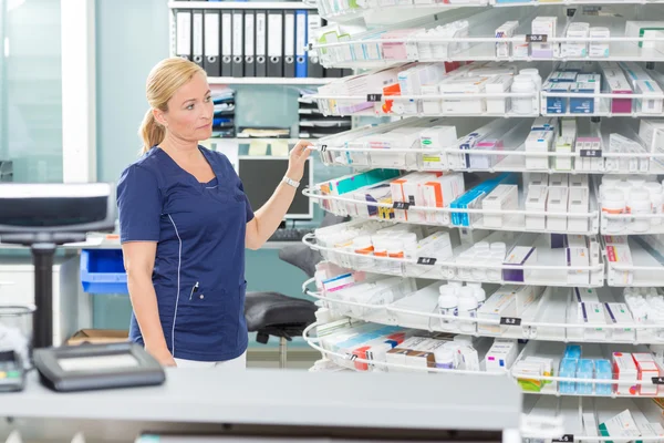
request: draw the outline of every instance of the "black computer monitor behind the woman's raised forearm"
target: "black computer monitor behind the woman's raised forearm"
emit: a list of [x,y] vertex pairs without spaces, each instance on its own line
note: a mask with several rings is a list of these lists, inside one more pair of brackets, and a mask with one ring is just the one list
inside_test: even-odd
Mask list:
[[[238,174],[245,187],[245,194],[253,210],[264,205],[274,189],[281,183],[288,169],[288,157],[252,156],[239,157]],[[313,183],[313,163],[309,158],[304,164],[304,175],[300,181],[300,188],[295,198],[286,214],[286,219],[310,220],[313,218],[313,202],[302,195],[302,188]]]

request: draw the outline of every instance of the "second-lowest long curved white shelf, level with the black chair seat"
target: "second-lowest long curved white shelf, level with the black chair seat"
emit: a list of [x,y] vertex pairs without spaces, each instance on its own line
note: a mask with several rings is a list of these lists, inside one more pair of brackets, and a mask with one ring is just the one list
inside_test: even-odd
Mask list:
[[[313,280],[313,279],[312,279]],[[388,305],[373,305],[349,300],[343,290],[322,295],[309,290],[312,284],[308,280],[303,291],[325,302],[334,312],[356,320],[386,326],[398,326],[423,331],[463,333],[474,337],[488,337],[511,340],[537,340],[564,343],[618,343],[618,344],[664,344],[664,328],[653,323],[624,323],[620,327],[606,323],[601,333],[585,333],[587,330],[598,329],[593,324],[578,321],[578,305],[575,289],[553,288],[544,289],[540,300],[531,305],[519,318],[520,326],[501,326],[499,320],[480,320],[466,318],[464,322],[499,327],[499,332],[490,332],[486,328],[477,327],[475,332],[461,331],[458,327],[458,317],[438,313],[438,290],[443,281],[425,285],[417,292],[395,300]],[[428,286],[426,286],[428,285]],[[487,298],[499,288],[497,285],[484,285]],[[624,302],[624,298],[616,288],[600,288],[598,296],[601,302]],[[619,338],[613,336],[616,329],[630,329],[631,332],[621,332]],[[627,337],[629,336],[629,337]]]

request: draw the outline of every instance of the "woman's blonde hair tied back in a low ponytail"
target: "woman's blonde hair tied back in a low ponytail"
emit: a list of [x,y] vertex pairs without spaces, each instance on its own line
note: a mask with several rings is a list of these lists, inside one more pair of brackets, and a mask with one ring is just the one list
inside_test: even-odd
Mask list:
[[162,60],[149,72],[146,97],[151,109],[145,113],[138,130],[138,136],[143,140],[144,154],[162,143],[166,135],[166,128],[155,120],[153,110],[168,111],[170,97],[198,72],[205,75],[205,71],[199,65],[179,56]]

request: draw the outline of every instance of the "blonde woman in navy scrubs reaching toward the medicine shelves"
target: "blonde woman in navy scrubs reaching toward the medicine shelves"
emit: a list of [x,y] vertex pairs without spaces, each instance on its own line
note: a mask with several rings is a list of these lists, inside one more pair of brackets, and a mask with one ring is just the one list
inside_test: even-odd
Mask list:
[[283,182],[252,212],[228,158],[198,145],[212,132],[205,72],[179,58],[147,79],[143,156],[117,185],[132,341],[164,365],[246,365],[245,248],[279,227],[310,143],[290,153]]

